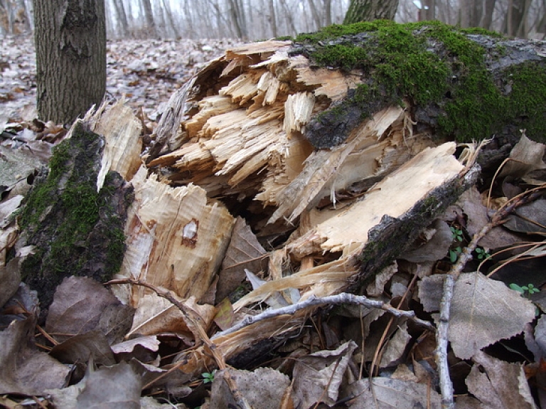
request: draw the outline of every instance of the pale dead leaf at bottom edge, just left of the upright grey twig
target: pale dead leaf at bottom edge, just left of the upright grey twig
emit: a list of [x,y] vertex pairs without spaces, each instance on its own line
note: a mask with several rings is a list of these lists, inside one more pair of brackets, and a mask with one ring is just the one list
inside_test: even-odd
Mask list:
[[439,393],[424,383],[377,377],[373,378],[373,391],[377,398],[377,406],[368,378],[352,383],[348,387],[348,393],[355,398],[350,400],[349,409],[439,409],[441,406]]

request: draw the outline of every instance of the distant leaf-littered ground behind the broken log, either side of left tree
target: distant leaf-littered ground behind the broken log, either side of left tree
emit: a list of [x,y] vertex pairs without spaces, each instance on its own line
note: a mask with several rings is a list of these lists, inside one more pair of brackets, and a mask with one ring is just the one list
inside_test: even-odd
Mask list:
[[[31,36],[0,38],[0,128],[36,117],[36,55]],[[125,97],[154,127],[165,102],[206,62],[237,44],[222,40],[118,40],[107,43],[107,97]]]

